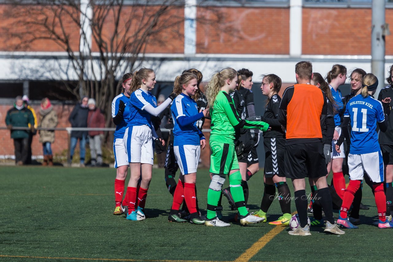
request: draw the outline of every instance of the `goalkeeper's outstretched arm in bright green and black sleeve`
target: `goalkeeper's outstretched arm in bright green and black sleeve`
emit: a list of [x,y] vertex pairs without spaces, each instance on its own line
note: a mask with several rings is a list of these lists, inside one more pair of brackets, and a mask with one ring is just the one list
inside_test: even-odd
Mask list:
[[268,130],[268,128],[269,128],[268,123],[261,122],[261,121],[258,121],[258,122],[247,121],[247,120],[241,119],[236,112],[235,106],[233,104],[233,99],[229,95],[226,95],[226,98],[227,99],[225,99],[225,100],[223,99],[222,108],[224,109],[224,112],[233,127],[235,127],[235,128],[258,128],[259,130],[262,130],[262,131]]

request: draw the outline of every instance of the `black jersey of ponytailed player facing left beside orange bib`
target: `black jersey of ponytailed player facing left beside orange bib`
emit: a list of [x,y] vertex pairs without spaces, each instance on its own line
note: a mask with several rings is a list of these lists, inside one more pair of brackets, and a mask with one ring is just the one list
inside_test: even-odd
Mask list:
[[281,128],[281,123],[278,121],[280,103],[281,97],[278,94],[274,94],[270,97],[269,103],[266,105],[265,113],[261,120],[268,123],[272,130],[263,132],[263,138],[285,138],[285,132]]

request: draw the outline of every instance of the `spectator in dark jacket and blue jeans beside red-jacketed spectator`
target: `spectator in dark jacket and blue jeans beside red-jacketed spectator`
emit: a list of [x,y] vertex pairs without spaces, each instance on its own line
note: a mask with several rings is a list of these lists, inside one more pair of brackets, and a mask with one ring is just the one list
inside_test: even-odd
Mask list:
[[[89,112],[87,106],[88,97],[84,96],[81,103],[76,104],[72,110],[68,121],[70,121],[72,127],[87,127],[87,115]],[[76,147],[76,143],[79,139],[79,150],[80,150],[80,166],[84,167],[84,156],[86,154],[86,139],[87,131],[72,131],[71,132],[71,150],[70,150],[70,163],[72,163],[73,153]]]

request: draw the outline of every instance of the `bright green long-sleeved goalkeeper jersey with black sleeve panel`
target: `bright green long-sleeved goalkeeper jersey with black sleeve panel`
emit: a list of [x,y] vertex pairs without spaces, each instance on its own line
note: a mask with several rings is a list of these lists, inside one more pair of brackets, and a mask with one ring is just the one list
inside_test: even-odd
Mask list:
[[266,131],[269,125],[262,121],[247,121],[239,117],[233,99],[224,91],[220,91],[210,108],[211,135],[210,140],[234,145],[235,128],[258,128]]

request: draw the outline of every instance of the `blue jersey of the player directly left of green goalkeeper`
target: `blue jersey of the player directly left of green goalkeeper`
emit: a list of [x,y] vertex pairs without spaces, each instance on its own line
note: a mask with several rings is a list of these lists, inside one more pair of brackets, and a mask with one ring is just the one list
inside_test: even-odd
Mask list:
[[[196,121],[203,117],[203,113],[198,113],[194,99],[181,93],[174,99],[171,112],[174,124],[173,145],[200,145],[200,140],[204,139],[204,136],[196,126]],[[180,119],[181,117],[184,119]]]

